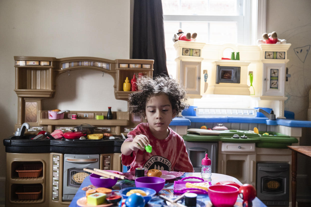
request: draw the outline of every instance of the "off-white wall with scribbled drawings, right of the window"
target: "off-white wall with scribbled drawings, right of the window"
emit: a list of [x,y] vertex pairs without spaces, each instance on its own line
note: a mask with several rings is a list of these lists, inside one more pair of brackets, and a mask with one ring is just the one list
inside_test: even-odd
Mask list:
[[[285,82],[285,110],[293,111],[295,119],[307,120],[309,90],[311,88],[311,53],[306,48],[295,48],[311,45],[311,1],[309,0],[267,0],[267,33],[276,31],[278,38],[286,39],[291,46],[287,53],[290,60],[286,67],[291,77]],[[304,54],[303,54],[304,53]],[[305,59],[304,59],[305,58]],[[311,145],[310,129],[303,128],[300,145]],[[297,165],[297,200],[309,199],[311,182],[310,159],[298,155]],[[311,179],[310,179],[311,180]],[[309,185],[309,187],[308,187]]]

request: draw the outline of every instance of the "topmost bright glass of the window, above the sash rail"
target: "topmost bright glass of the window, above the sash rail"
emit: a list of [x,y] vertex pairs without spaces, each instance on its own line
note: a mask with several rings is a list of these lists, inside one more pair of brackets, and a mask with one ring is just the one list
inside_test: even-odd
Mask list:
[[238,15],[237,0],[162,0],[164,15]]

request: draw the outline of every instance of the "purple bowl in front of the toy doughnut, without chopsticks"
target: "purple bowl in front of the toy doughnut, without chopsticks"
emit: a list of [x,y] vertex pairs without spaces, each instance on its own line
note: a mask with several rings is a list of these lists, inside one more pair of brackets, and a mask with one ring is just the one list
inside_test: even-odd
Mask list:
[[135,179],[136,187],[151,188],[158,193],[163,189],[165,185],[165,179],[159,177],[140,177]]

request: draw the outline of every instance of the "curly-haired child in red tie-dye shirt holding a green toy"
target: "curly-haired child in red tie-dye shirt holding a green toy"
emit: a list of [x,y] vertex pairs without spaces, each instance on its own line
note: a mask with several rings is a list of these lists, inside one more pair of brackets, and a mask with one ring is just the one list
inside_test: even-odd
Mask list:
[[[148,122],[138,124],[121,146],[122,164],[136,168],[194,172],[183,138],[169,128],[188,105],[186,92],[174,79],[146,76],[137,79],[138,92],[128,98],[129,112]],[[146,152],[150,144],[152,152]]]

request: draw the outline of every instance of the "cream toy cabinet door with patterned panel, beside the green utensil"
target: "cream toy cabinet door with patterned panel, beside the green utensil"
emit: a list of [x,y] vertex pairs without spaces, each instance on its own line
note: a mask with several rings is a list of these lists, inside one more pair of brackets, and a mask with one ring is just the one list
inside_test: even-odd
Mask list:
[[262,96],[285,95],[285,63],[263,63]]

